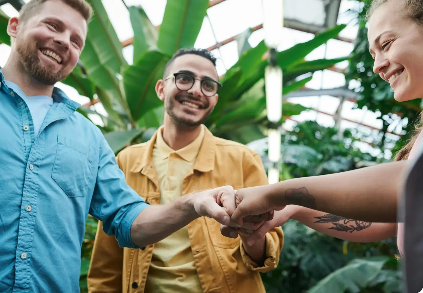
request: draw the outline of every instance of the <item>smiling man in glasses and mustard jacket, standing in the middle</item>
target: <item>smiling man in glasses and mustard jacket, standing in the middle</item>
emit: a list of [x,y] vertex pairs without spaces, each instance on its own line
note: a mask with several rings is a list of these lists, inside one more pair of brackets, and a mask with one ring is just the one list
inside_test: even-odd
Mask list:
[[[221,87],[215,66],[216,59],[207,50],[177,52],[156,85],[165,104],[164,125],[148,142],[118,154],[127,183],[151,205],[218,186],[239,189],[267,184],[257,153],[214,137],[203,125]],[[262,223],[251,223],[251,230]],[[244,244],[251,231],[227,238],[220,229],[214,219],[200,217],[145,250],[135,250],[119,247],[99,222],[89,292],[264,293],[259,272],[277,267],[281,228],[269,231],[253,246]]]

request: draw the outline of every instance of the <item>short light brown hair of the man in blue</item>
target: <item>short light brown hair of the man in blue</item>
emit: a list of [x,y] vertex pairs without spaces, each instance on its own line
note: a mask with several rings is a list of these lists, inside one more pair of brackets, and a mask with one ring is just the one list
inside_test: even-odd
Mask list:
[[[30,0],[25,3],[19,11],[19,19],[25,22],[38,12],[41,6],[48,0]],[[87,22],[90,22],[93,8],[85,0],[60,0],[66,5],[77,10]]]

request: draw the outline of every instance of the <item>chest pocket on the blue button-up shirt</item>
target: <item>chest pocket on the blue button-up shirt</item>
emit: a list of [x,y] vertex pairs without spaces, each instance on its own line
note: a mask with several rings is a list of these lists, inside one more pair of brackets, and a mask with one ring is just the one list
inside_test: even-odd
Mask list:
[[92,163],[88,153],[88,148],[80,142],[57,136],[52,179],[68,197],[81,197],[87,194]]

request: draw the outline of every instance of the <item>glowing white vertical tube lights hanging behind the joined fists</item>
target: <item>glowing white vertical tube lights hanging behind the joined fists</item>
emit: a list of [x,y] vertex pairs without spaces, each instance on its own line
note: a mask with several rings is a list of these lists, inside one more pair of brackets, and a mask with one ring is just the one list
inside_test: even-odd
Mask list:
[[278,123],[282,119],[282,69],[277,65],[277,47],[281,42],[283,28],[283,0],[262,0],[264,12],[264,43],[270,48],[269,65],[265,68],[267,119],[272,123],[268,131],[270,184],[279,181],[281,137]]

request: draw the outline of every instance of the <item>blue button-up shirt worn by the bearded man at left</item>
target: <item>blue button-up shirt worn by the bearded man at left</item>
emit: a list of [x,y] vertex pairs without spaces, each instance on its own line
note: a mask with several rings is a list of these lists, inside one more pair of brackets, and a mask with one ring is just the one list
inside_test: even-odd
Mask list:
[[120,246],[148,206],[125,182],[102,132],[58,88],[38,136],[0,71],[0,292],[80,292],[88,214]]

